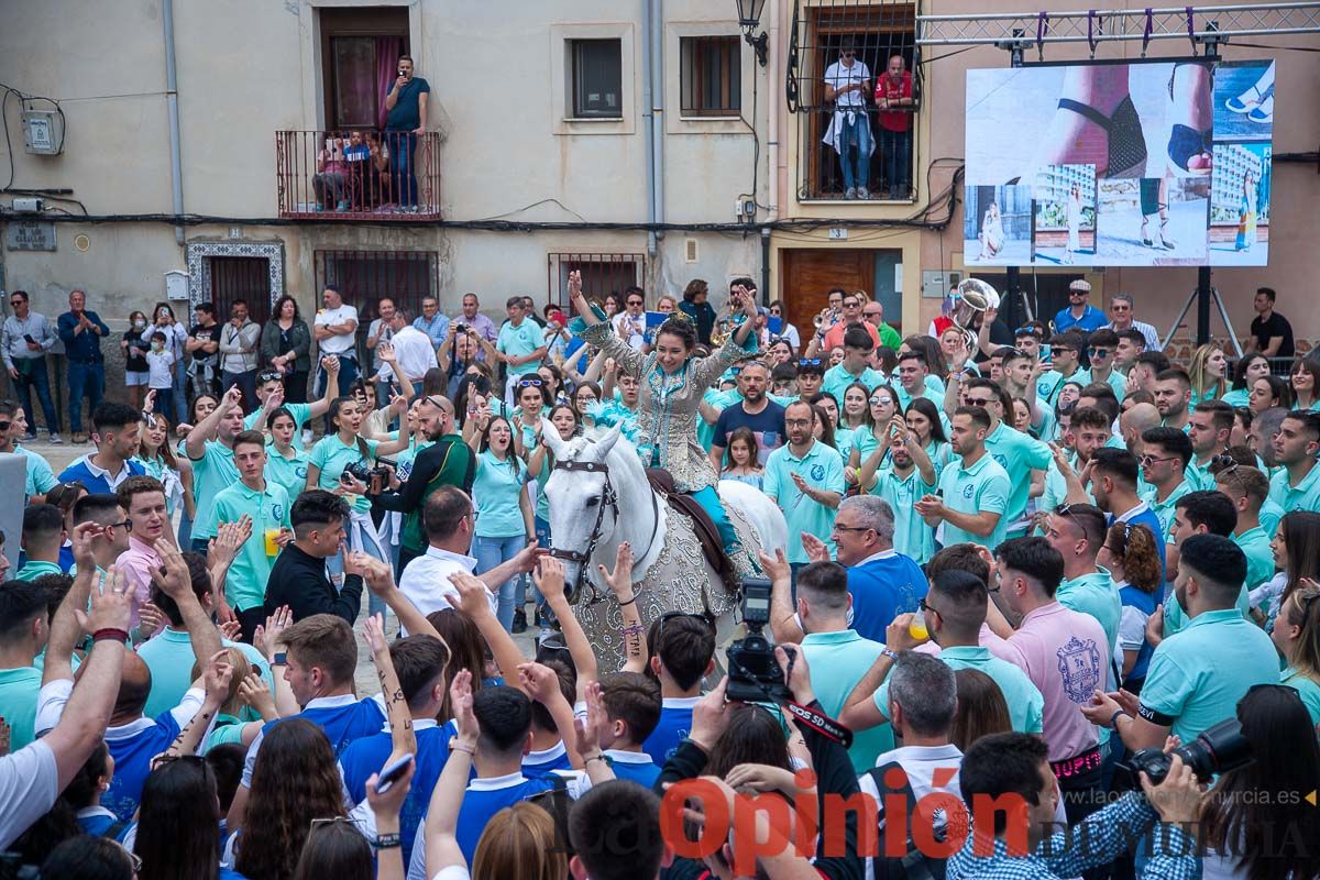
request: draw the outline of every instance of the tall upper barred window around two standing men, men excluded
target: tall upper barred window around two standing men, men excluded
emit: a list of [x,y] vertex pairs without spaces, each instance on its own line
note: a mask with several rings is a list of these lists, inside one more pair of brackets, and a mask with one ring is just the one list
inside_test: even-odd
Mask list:
[[[797,197],[800,199],[842,199],[847,190],[840,154],[824,142],[834,119],[836,100],[825,98],[825,74],[841,62],[841,50],[855,50],[854,63],[866,65],[870,88],[863,94],[875,149],[866,164],[867,189],[871,198],[913,198],[912,173],[916,154],[916,123],[921,103],[921,69],[917,65],[916,16],[919,3],[895,0],[859,3],[858,0],[822,0],[818,5],[795,12],[791,30],[787,99],[799,120]],[[911,88],[911,106],[884,113],[876,107],[874,91],[891,58],[903,61],[903,75],[909,80],[899,91]],[[884,116],[882,116],[884,113]],[[888,135],[890,127],[906,123],[906,137]],[[891,164],[890,157],[895,157]],[[906,160],[906,161],[904,161]],[[855,160],[854,160],[855,165]],[[851,170],[851,169],[850,169]]]

